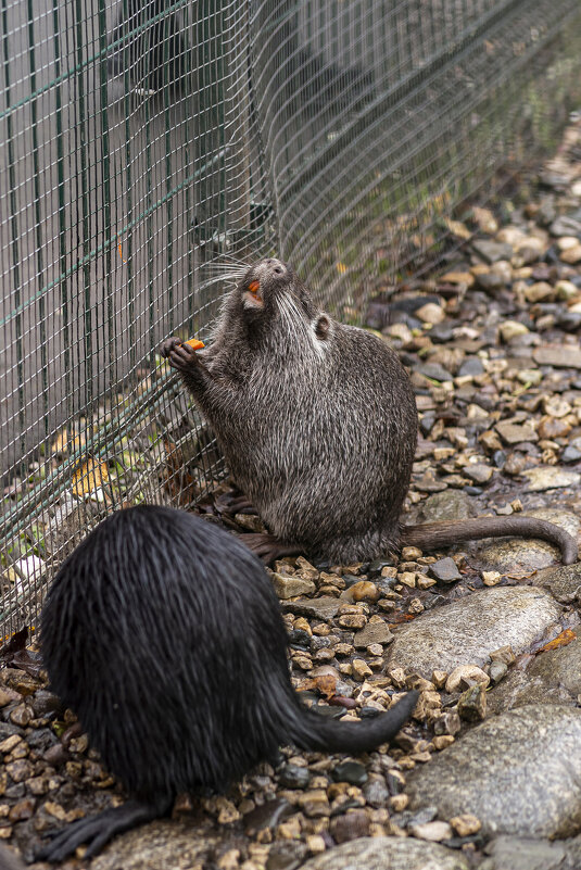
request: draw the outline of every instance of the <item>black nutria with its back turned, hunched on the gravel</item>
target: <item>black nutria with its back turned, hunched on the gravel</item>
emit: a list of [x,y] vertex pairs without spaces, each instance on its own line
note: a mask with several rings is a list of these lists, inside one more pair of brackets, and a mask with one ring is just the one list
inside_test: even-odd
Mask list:
[[304,707],[262,564],[199,517],[141,506],[113,514],[68,556],[42,610],[51,688],[131,799],[65,828],[38,857],[94,855],[167,814],[180,792],[223,791],[281,744],[370,751],[414,709],[408,692],[361,723]]

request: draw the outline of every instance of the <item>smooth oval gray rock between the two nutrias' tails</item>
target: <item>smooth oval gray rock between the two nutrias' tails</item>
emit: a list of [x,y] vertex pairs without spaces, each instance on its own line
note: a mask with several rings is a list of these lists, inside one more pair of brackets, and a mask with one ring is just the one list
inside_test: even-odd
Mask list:
[[534,587],[475,592],[394,629],[388,664],[426,679],[433,670],[450,672],[458,665],[482,668],[500,646],[511,646],[515,655],[527,652],[560,610],[551,595]]

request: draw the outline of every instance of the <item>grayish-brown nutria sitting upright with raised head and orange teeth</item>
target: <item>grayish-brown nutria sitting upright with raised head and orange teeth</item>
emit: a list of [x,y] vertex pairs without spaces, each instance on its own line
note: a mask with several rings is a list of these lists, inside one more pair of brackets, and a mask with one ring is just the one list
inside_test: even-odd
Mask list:
[[210,421],[230,471],[270,534],[244,541],[267,560],[306,552],[349,564],[415,545],[519,535],[577,543],[531,517],[402,526],[417,440],[414,393],[376,336],[320,311],[279,260],[252,266],[201,353],[167,339],[169,364]]

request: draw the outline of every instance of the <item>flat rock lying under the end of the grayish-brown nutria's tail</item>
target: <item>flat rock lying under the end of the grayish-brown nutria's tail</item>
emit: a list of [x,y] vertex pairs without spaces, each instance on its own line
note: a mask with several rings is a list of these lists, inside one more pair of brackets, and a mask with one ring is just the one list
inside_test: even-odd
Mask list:
[[[580,521],[568,510],[547,507],[527,510],[526,516],[546,519],[577,538]],[[559,551],[546,541],[536,539],[510,538],[495,540],[489,544],[477,544],[473,549],[473,565],[480,570],[495,570],[501,573],[530,573],[546,568],[559,559]],[[471,559],[472,562],[472,559]]]

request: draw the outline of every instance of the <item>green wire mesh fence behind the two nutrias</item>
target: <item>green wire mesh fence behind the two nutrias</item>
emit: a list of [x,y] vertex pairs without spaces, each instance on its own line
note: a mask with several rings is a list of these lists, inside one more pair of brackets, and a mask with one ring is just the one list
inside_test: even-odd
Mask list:
[[338,316],[581,97],[577,0],[0,0],[2,633],[106,513],[224,475],[163,338],[228,264]]

